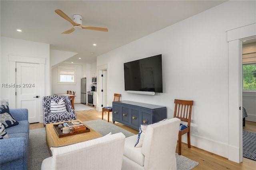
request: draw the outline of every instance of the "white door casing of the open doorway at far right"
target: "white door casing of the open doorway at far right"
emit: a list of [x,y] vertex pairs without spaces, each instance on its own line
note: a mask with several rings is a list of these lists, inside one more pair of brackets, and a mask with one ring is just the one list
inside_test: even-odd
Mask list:
[[228,41],[228,159],[242,162],[242,39],[256,36],[256,23],[230,29]]

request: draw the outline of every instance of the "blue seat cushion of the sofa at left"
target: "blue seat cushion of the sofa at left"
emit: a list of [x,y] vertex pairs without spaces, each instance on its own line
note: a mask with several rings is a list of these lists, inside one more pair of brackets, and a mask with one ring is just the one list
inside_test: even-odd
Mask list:
[[13,133],[29,134],[29,122],[27,120],[22,120],[18,125],[7,128],[6,132],[8,135]]

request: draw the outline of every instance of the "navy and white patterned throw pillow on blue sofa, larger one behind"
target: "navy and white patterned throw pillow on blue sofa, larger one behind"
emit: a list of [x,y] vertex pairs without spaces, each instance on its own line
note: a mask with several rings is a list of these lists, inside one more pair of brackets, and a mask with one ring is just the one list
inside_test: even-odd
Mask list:
[[12,127],[15,125],[18,125],[19,122],[14,119],[12,114],[10,113],[9,104],[8,102],[4,102],[0,106],[0,117],[1,117],[1,123],[4,125],[5,128]]

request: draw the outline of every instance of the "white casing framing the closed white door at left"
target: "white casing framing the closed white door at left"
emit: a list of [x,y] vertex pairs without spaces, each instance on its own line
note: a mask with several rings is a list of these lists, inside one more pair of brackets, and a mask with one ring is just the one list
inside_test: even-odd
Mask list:
[[[45,64],[46,59],[41,57],[31,57],[31,56],[22,56],[22,55],[8,55],[9,57],[9,83],[16,83],[16,63],[35,63],[39,65],[39,77],[40,77],[40,94],[38,96],[45,96]],[[9,89],[9,106],[10,108],[18,108],[16,106],[16,88]],[[37,113],[40,117],[40,123],[43,122],[43,114],[42,114],[42,100],[39,100],[39,112]],[[29,113],[30,114],[30,113]],[[30,122],[31,123],[31,122]]]

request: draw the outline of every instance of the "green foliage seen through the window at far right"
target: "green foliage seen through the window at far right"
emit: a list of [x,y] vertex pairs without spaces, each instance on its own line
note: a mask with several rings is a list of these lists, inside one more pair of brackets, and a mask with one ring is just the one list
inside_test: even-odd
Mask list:
[[256,90],[256,64],[243,65],[244,90]]

